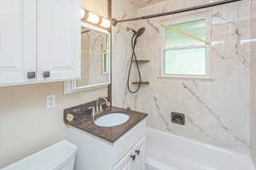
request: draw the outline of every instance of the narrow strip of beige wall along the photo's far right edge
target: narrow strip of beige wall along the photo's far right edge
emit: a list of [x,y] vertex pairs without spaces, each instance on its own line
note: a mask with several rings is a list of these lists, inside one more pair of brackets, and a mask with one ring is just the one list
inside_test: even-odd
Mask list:
[[[252,0],[251,38],[256,39],[256,0]],[[251,152],[256,166],[256,42],[251,43]]]

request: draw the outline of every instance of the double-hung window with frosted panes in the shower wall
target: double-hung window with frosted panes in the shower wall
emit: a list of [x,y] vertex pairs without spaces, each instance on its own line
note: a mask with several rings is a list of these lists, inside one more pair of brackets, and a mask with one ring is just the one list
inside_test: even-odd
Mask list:
[[210,29],[207,16],[163,25],[162,77],[210,78]]

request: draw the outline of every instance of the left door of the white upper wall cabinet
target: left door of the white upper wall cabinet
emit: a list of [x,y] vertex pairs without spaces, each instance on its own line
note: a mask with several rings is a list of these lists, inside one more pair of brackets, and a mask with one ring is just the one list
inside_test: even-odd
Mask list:
[[0,86],[36,82],[36,0],[0,0]]

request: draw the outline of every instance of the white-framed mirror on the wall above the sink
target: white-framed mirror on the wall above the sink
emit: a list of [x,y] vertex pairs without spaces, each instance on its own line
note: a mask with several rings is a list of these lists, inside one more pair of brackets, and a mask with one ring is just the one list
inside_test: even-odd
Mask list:
[[110,34],[96,26],[82,23],[81,79],[66,82],[65,94],[108,87],[110,84]]

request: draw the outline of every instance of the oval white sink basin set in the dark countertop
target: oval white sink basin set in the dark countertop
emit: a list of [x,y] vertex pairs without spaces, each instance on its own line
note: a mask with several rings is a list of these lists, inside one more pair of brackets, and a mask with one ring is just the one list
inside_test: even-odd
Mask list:
[[95,124],[99,127],[115,127],[127,122],[130,116],[123,113],[112,113],[96,119]]

